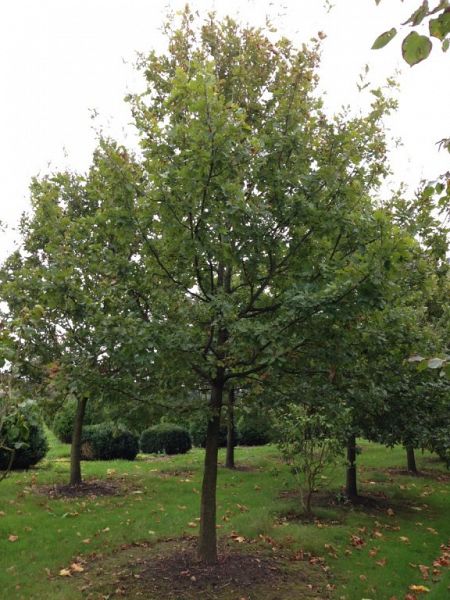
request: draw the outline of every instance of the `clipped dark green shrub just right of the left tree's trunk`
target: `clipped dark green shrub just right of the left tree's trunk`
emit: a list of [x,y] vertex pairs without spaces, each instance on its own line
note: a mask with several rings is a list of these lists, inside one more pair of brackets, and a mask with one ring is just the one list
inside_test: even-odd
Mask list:
[[131,431],[117,429],[111,423],[87,425],[83,428],[83,460],[134,460],[138,451],[138,438]]

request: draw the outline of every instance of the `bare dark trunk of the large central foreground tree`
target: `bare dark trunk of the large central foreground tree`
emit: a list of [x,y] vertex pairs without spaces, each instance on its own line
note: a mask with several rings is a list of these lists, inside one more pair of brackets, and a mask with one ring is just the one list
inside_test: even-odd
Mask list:
[[212,410],[212,416],[208,422],[206,433],[205,466],[202,482],[200,534],[198,544],[198,556],[200,560],[206,564],[214,564],[217,562],[217,455],[223,386],[223,381],[216,381],[211,388],[210,408]]

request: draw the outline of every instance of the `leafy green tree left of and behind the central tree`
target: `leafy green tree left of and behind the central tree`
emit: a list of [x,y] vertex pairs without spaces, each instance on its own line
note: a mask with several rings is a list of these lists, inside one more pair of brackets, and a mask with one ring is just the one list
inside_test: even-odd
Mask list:
[[[121,169],[123,163],[127,169]],[[76,399],[72,485],[81,482],[88,400],[131,401],[133,393],[138,395],[132,365],[151,363],[148,319],[133,329],[129,318],[144,310],[130,287],[135,239],[125,177],[130,178],[130,167],[128,155],[104,141],[87,175],[57,173],[34,180],[33,212],[21,224],[22,248],[1,272],[7,321],[17,340],[17,369],[41,386],[41,395]]]

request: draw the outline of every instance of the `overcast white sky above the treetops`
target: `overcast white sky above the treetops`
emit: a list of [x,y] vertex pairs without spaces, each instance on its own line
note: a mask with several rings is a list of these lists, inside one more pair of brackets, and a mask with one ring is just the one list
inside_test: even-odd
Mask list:
[[[434,43],[431,57],[409,68],[400,56],[403,36],[371,51],[376,36],[405,21],[419,0],[191,0],[200,13],[239,16],[263,24],[266,15],[280,33],[302,43],[317,31],[323,42],[321,89],[332,111],[343,104],[354,111],[370,94],[356,81],[367,63],[368,79],[381,84],[400,69],[400,107],[388,125],[403,146],[392,152],[393,185],[415,189],[420,179],[450,169],[450,155],[436,142],[450,135],[450,51]],[[133,69],[135,53],[162,49],[160,25],[179,0],[3,0],[0,2],[0,258],[14,247],[14,226],[29,208],[33,175],[70,167],[85,170],[95,145],[95,127],[132,143],[131,121],[123,97],[141,89]],[[128,134],[128,138],[126,138]]]

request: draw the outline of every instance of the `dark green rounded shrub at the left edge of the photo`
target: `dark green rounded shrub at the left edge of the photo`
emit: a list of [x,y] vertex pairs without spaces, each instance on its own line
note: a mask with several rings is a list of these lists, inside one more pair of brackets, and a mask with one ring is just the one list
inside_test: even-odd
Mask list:
[[[19,405],[14,417],[3,423],[2,443],[15,449],[12,469],[28,469],[47,454],[44,428],[31,403]],[[9,461],[10,453],[0,450],[0,470],[7,469]]]

